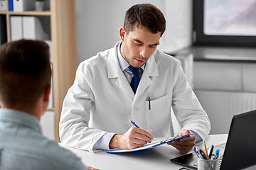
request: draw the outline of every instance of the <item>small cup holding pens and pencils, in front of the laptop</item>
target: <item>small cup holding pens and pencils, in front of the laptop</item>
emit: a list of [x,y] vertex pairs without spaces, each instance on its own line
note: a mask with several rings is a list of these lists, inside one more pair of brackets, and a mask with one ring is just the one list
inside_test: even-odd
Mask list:
[[198,170],[217,170],[220,169],[220,159],[201,159],[198,158]]

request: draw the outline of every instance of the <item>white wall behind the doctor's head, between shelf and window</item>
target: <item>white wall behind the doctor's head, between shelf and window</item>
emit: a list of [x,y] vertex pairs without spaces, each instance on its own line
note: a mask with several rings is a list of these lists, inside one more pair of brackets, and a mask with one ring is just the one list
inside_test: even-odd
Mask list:
[[142,3],[154,4],[166,17],[161,50],[175,52],[191,45],[191,0],[76,0],[78,63],[114,47],[120,40],[119,28],[123,26],[125,12]]

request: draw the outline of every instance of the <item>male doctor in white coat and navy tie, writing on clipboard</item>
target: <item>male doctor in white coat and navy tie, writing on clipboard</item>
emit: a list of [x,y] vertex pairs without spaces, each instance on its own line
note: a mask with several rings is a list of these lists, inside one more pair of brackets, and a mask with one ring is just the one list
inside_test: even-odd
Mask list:
[[[63,144],[90,152],[141,147],[154,137],[175,135],[171,108],[182,127],[179,134],[194,135],[169,145],[188,153],[195,140],[206,139],[210,132],[208,116],[180,62],[156,50],[165,27],[159,8],[134,5],[119,29],[122,41],[79,65],[63,101]],[[140,128],[131,128],[129,119]]]

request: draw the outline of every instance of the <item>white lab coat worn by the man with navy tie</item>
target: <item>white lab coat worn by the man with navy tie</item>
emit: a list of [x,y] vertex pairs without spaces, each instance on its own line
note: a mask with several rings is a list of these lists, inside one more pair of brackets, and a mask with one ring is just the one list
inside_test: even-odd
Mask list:
[[[107,132],[124,133],[129,119],[154,137],[170,137],[171,107],[183,129],[206,139],[210,122],[186,80],[180,62],[156,50],[146,62],[136,94],[119,67],[117,47],[82,62],[63,101],[60,141],[89,150]],[[148,97],[151,98],[149,110]]]

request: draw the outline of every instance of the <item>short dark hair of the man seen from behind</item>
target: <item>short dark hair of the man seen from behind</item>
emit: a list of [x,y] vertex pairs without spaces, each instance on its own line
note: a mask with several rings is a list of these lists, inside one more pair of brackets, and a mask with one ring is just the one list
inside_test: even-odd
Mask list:
[[38,40],[18,40],[0,47],[0,101],[33,107],[47,86],[51,68],[49,46]]

